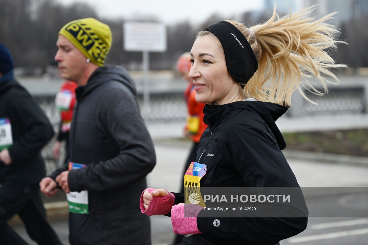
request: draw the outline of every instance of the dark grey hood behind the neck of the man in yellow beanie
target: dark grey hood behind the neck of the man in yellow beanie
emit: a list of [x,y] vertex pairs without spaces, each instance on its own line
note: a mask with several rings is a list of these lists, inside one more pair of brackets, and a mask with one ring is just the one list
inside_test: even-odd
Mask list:
[[77,100],[82,99],[105,81],[117,81],[124,84],[135,95],[135,84],[128,72],[120,66],[97,68],[89,77],[87,84],[75,89]]

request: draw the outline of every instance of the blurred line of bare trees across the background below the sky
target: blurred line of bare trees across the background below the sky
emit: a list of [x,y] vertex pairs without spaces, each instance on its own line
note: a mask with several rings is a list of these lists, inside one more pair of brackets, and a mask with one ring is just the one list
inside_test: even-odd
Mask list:
[[[74,3],[64,6],[54,0],[0,0],[0,42],[9,47],[13,53],[16,66],[45,67],[54,60],[57,33],[67,22],[74,19],[98,18],[93,7],[86,3]],[[247,26],[266,21],[272,13],[265,11],[245,12],[240,15],[240,22]],[[366,40],[368,40],[368,15],[354,14],[354,18],[341,24],[340,40],[350,44],[338,45],[337,52],[330,54],[339,63],[350,67],[368,66]],[[210,15],[205,21],[192,25],[188,21],[167,26],[167,51],[151,53],[151,69],[173,69],[181,53],[190,51],[198,31],[232,16]],[[123,49],[124,18],[100,19],[110,26],[113,42],[107,64],[123,65],[128,69],[140,69],[141,52],[126,52]],[[134,15],[129,20],[158,22],[155,16]]]

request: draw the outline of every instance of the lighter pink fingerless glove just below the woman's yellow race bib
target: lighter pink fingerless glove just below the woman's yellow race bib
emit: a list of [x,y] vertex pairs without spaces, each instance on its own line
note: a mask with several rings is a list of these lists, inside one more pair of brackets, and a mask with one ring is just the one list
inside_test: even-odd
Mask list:
[[197,227],[197,216],[203,207],[188,204],[185,205],[185,209],[188,217],[184,217],[184,205],[175,205],[171,209],[171,224],[173,224],[174,233],[181,235],[202,233]]

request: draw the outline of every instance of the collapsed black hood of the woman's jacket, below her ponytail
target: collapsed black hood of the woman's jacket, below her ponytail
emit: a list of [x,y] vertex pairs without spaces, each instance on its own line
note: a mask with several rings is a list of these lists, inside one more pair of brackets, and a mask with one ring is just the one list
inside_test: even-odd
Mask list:
[[203,113],[205,114],[204,122],[214,128],[223,120],[226,114],[231,111],[255,111],[268,125],[276,138],[279,148],[283,150],[286,147],[286,143],[275,121],[286,113],[288,108],[287,106],[262,101],[238,101],[220,106],[206,104],[203,109]]

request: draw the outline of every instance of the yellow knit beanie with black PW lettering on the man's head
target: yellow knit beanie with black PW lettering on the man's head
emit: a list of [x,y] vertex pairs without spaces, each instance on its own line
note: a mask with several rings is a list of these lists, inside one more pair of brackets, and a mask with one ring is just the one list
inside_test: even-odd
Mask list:
[[112,34],[110,27],[94,18],[77,19],[64,25],[59,34],[96,65],[102,66],[109,53]]

